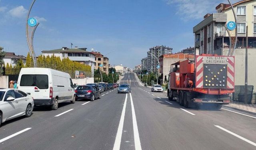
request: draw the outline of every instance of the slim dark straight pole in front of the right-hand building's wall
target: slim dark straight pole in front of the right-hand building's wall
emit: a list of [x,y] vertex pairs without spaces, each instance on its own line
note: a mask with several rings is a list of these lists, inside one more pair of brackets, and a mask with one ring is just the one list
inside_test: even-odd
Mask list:
[[248,104],[248,102],[247,102],[247,86],[248,86],[248,26],[246,26],[244,104]]

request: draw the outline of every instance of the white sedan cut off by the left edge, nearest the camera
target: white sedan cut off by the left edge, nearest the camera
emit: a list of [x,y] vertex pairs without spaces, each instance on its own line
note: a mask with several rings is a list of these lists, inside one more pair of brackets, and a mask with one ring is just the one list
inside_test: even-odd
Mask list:
[[0,88],[0,126],[19,116],[30,117],[33,108],[34,100],[30,95],[17,89]]

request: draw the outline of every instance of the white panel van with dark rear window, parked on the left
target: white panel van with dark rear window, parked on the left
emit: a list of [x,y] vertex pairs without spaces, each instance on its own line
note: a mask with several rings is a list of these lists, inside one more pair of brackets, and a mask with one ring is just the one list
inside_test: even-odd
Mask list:
[[58,109],[58,103],[75,103],[76,96],[70,75],[50,68],[22,68],[17,88],[30,94],[35,106],[51,106]]

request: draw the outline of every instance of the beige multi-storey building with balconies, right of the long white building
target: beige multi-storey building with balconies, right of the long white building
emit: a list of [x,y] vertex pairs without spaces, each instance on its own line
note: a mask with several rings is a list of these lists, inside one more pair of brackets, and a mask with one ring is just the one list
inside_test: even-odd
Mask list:
[[[98,70],[98,68],[100,68],[101,71],[108,74],[108,68],[109,68],[108,58],[104,57],[100,52],[92,52],[92,54],[95,55],[95,62],[96,62],[95,69]],[[100,67],[100,64],[102,64],[102,67]]]

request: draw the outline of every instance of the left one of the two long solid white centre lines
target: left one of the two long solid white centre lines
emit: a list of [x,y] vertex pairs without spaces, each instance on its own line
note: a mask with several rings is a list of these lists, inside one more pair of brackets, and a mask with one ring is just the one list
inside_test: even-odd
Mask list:
[[118,125],[118,129],[117,129],[117,133],[116,133],[116,140],[114,143],[113,150],[120,150],[122,131],[123,131],[123,127],[124,127],[124,115],[125,115],[126,102],[127,102],[127,94],[125,96],[124,107],[123,107],[120,122]]

